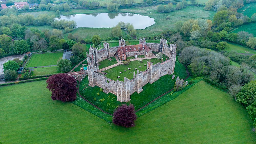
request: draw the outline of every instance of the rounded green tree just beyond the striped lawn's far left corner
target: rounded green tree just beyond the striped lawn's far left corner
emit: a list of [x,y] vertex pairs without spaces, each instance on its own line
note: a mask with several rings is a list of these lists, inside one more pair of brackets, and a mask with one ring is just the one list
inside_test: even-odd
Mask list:
[[13,45],[14,54],[23,54],[30,50],[29,44],[25,40],[15,40]]

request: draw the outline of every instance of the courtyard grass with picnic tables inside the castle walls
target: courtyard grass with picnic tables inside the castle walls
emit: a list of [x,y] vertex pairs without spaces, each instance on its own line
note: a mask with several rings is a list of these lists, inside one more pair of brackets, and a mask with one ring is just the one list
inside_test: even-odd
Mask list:
[[[139,60],[131,61],[128,65],[122,64],[102,72],[106,72],[107,74],[105,76],[110,78],[111,80],[124,81],[124,77],[127,77],[128,79],[133,78],[133,72],[135,71],[135,73],[137,73],[137,70],[135,70],[135,68],[137,68],[139,71],[145,71],[147,69],[147,61],[149,61],[149,59],[142,60],[142,63]],[[151,62],[153,62],[153,64],[156,64],[158,62],[161,63],[162,60],[158,60],[154,58],[154,59],[151,59]],[[128,70],[128,68],[131,68],[131,69]],[[124,70],[127,70],[127,71],[125,72]],[[123,72],[123,73],[119,73],[119,72]],[[117,78],[117,76],[120,76],[120,78]]]

